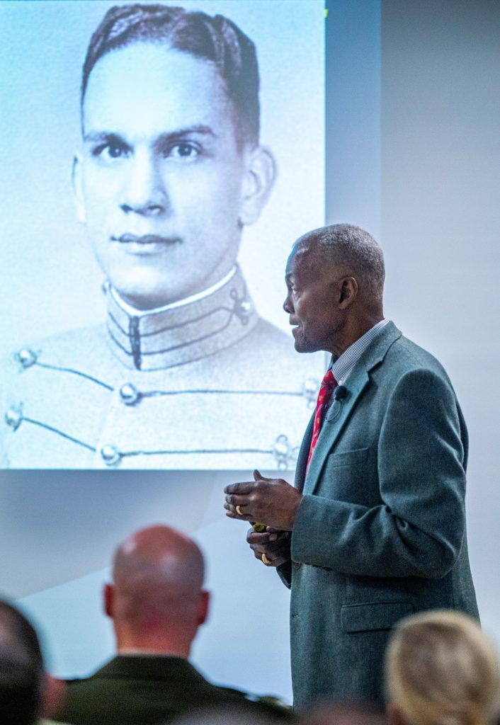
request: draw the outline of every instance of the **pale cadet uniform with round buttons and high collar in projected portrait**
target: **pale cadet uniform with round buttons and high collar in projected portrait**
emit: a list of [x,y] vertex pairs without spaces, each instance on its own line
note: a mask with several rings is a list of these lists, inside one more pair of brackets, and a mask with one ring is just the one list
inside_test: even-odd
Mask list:
[[9,360],[2,468],[294,468],[321,360],[259,318],[238,268],[139,313],[107,286],[106,326]]

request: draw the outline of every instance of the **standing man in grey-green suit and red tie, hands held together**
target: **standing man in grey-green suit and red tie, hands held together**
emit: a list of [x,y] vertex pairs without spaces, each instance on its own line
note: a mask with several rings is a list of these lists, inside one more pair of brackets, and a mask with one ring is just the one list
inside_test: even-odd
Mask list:
[[292,589],[295,705],[382,698],[393,624],[454,608],[478,616],[467,557],[467,429],[435,358],[382,311],[384,261],[351,225],[301,237],[284,310],[298,352],[332,363],[298,457],[282,479],[226,487],[231,518],[266,524],[248,542]]

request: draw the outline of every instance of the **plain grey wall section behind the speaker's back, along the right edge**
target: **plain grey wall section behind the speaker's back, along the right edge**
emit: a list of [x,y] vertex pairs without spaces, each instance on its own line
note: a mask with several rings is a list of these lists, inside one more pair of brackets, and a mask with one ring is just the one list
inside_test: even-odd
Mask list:
[[385,312],[462,402],[472,573],[500,642],[499,86],[498,2],[382,3]]

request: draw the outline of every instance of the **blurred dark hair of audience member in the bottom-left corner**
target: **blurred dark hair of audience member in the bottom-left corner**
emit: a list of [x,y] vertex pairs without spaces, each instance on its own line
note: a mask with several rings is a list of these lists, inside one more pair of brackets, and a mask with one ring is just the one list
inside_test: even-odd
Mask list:
[[44,661],[33,626],[20,611],[0,600],[0,723],[38,721]]

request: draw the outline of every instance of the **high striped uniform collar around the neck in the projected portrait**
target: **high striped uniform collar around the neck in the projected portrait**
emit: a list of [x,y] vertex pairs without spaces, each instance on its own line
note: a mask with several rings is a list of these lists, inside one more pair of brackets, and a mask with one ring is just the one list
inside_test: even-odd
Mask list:
[[134,310],[109,283],[105,291],[108,342],[132,370],[192,363],[239,342],[258,323],[238,267],[210,289],[157,310]]

